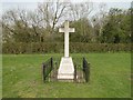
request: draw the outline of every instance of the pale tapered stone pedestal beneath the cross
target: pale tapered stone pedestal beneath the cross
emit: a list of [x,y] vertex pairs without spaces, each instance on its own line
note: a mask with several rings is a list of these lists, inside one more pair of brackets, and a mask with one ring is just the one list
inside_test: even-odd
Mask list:
[[74,66],[72,58],[63,57],[60,62],[60,68],[58,70],[59,80],[73,80],[74,79]]

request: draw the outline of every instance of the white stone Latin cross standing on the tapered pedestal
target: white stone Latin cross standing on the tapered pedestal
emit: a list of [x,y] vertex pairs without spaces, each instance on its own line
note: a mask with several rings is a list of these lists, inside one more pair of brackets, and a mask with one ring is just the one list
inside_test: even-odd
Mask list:
[[64,32],[64,57],[69,57],[69,32],[74,32],[74,28],[69,28],[69,21],[65,21],[64,28],[59,28],[59,32]]

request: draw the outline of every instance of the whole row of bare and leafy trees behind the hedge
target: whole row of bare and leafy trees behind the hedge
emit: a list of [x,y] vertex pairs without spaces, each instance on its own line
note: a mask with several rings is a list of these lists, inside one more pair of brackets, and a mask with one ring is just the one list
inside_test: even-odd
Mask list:
[[65,20],[75,33],[70,33],[71,42],[131,43],[131,13],[133,9],[111,8],[105,11],[101,3],[94,12],[92,2],[45,2],[33,11],[12,9],[2,14],[3,42],[63,42],[59,28]]

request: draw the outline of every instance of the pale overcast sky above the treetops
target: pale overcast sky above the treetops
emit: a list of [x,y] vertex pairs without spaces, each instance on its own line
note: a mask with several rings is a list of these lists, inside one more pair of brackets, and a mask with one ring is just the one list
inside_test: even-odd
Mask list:
[[[0,1],[0,12],[7,11],[9,9],[27,9],[27,10],[34,10],[38,7],[39,2],[43,2],[45,0],[1,0]],[[50,0],[49,0],[50,1]],[[55,0],[54,0],[55,1]],[[96,10],[96,6],[100,2],[106,3],[106,9],[110,8],[121,8],[121,9],[129,9],[131,7],[132,0],[63,0],[63,1],[71,1],[71,2],[83,2],[83,1],[93,1],[94,8]]]

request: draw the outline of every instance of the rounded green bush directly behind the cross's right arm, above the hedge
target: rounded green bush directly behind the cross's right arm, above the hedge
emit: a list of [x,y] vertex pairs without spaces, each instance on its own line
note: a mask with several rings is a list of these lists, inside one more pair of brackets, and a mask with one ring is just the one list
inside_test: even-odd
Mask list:
[[70,23],[70,27],[75,28],[74,33],[70,33],[70,41],[72,42],[91,42],[93,29],[86,18],[79,19]]

